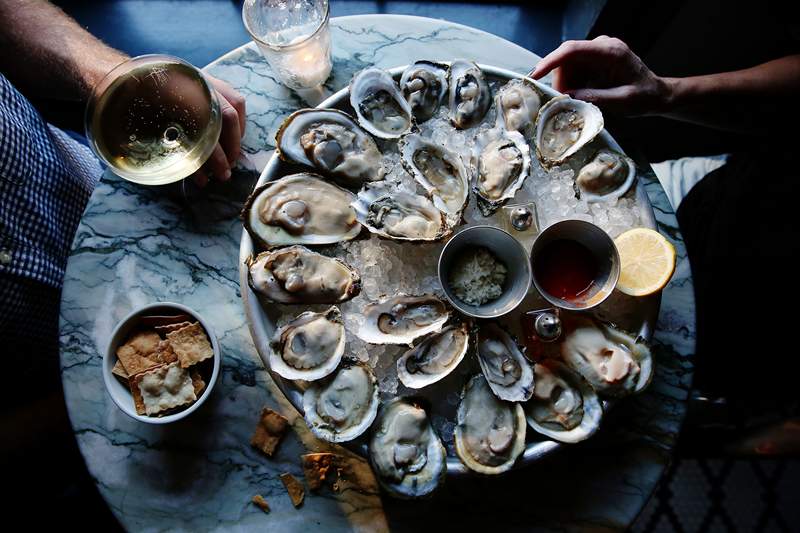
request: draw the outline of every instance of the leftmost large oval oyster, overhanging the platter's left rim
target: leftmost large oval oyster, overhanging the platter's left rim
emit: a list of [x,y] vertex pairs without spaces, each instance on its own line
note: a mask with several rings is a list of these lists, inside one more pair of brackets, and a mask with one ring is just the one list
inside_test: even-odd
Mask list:
[[356,196],[317,174],[292,174],[258,187],[242,219],[264,248],[287,244],[331,244],[361,232],[350,204]]

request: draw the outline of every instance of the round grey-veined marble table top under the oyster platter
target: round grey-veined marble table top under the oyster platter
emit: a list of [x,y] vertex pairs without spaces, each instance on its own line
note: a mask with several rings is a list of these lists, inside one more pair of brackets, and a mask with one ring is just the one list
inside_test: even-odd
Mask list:
[[[369,65],[468,56],[520,73],[538,60],[508,41],[446,21],[365,15],[331,20],[334,69],[326,92]],[[440,527],[616,530],[629,526],[670,459],[686,411],[694,351],[694,300],[686,251],[652,173],[641,177],[659,228],[678,250],[654,338],[657,373],[642,395],[619,404],[588,442],[497,478],[451,480],[431,500],[401,502],[377,491],[322,491],[292,507],[278,475],[302,479],[299,455],[327,446],[275,387],[253,346],[239,292],[237,218],[274,147],[275,132],[304,107],[275,79],[252,43],[207,67],[247,99],[245,156],[235,180],[184,208],[164,189],[106,173],[78,229],[61,303],[61,368],[75,435],[100,493],[131,530],[399,531],[420,519]],[[313,96],[305,95],[313,100]],[[611,132],[613,134],[613,132]],[[106,393],[102,353],[134,307],[175,301],[213,323],[223,360],[216,389],[196,413],[166,427],[136,422]],[[263,407],[292,431],[268,459],[249,442]],[[264,514],[250,503],[269,501]]]

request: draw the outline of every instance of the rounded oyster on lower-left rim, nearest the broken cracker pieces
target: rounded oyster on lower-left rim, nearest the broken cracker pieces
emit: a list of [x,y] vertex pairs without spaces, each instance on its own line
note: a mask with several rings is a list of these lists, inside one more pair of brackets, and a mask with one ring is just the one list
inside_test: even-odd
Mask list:
[[350,360],[303,393],[306,424],[314,435],[329,442],[347,442],[364,433],[375,420],[379,403],[372,371]]

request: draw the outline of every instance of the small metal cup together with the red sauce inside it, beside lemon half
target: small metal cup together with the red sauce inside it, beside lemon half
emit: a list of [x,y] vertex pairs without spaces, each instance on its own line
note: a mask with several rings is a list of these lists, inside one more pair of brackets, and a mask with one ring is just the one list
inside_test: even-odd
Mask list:
[[583,220],[545,229],[531,249],[533,285],[551,304],[583,311],[601,304],[619,280],[619,253],[611,237]]

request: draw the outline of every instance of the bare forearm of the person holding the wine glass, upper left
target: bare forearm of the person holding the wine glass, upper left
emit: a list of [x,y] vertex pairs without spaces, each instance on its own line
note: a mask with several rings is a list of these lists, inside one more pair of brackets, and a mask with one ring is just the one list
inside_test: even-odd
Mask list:
[[44,0],[0,0],[0,70],[24,91],[85,100],[125,54]]

